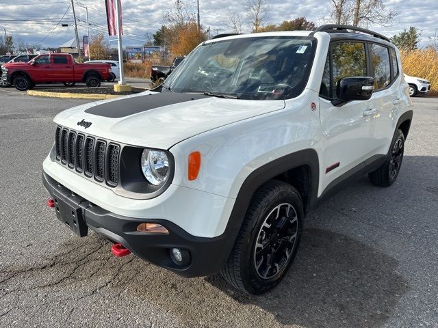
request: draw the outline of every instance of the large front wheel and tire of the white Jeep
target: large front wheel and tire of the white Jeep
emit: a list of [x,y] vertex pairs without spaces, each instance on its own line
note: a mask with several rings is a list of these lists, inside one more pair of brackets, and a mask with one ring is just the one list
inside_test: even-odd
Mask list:
[[263,184],[253,195],[227,264],[220,271],[222,277],[253,295],[279,284],[298,250],[303,207],[300,194],[290,184],[276,180]]

